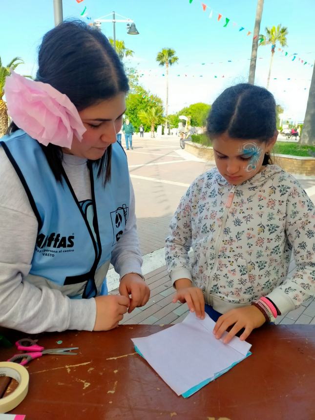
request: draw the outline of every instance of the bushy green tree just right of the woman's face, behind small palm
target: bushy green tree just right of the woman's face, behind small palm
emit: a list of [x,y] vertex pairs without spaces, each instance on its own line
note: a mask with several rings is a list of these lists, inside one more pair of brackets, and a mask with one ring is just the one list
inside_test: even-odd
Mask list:
[[[126,98],[126,115],[136,131],[139,130],[140,124],[144,126],[146,131],[151,128],[149,123],[141,120],[139,112],[142,110],[147,112],[152,107],[156,107],[159,110],[159,114],[163,115],[162,99],[156,95],[152,95],[143,86],[135,85],[133,91]],[[163,122],[163,117],[161,117],[158,124],[162,124]]]

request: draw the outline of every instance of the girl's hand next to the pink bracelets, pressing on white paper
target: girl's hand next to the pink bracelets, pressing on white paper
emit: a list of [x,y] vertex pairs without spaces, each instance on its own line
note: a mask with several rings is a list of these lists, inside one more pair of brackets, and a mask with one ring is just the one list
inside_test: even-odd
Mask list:
[[222,334],[231,328],[228,335],[224,338],[223,342],[225,344],[231,341],[231,338],[235,336],[242,328],[245,328],[244,333],[240,336],[241,340],[246,340],[246,338],[251,334],[254,328],[261,327],[266,321],[264,315],[255,308],[253,305],[245,306],[243,308],[232,309],[226,314],[221,315],[213,329],[213,334],[215,338],[221,338]]

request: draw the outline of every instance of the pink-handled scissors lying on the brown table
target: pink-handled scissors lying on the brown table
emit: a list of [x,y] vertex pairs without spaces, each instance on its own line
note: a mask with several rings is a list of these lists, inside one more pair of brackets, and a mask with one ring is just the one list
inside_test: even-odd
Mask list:
[[26,350],[28,353],[21,353],[19,355],[14,355],[8,362],[16,362],[20,365],[26,365],[33,359],[37,357],[41,357],[42,355],[77,355],[78,353],[72,353],[68,350],[76,350],[79,347],[67,347],[67,348],[59,348],[59,349],[46,349],[44,347],[39,346],[37,343],[38,340],[32,340],[31,338],[22,338],[18,340],[15,345],[17,346],[18,350]]

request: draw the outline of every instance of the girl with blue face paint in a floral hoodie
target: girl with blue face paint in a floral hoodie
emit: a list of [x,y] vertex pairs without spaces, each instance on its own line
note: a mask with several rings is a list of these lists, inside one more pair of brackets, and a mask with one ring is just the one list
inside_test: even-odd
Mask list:
[[[227,343],[243,328],[245,340],[314,295],[315,210],[298,182],[272,165],[278,132],[266,89],[226,89],[212,105],[208,135],[216,168],[182,197],[166,261],[177,290],[173,302],[186,301],[201,318],[206,311],[217,321],[216,338],[232,327]],[[292,249],[297,271],[287,278]]]

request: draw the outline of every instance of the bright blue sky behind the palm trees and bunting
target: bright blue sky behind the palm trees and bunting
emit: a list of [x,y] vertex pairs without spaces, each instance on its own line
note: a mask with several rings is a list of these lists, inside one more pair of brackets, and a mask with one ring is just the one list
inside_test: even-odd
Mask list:
[[[208,6],[205,12],[198,0],[191,4],[189,0],[63,0],[63,18],[80,18],[86,6],[92,20],[113,10],[134,20],[140,34],[127,35],[126,24],[116,23],[116,39],[123,39],[134,51],[129,64],[143,75],[140,83],[163,100],[164,70],[155,58],[162,48],[173,48],[179,62],[170,69],[169,112],[175,112],[194,102],[211,103],[225,87],[248,80],[252,37],[246,34],[253,31],[256,0],[209,0],[204,4]],[[218,13],[222,14],[220,21]],[[37,47],[42,35],[54,26],[53,0],[6,1],[1,15],[2,62],[20,56],[25,64],[18,71],[34,75]],[[270,90],[286,116],[299,121],[304,119],[313,67],[301,64],[298,58],[314,63],[314,16],[314,0],[264,1],[261,32],[277,24],[289,30],[284,48],[288,56],[276,49]],[[225,18],[230,19],[226,28]],[[239,32],[242,26],[245,29]],[[112,27],[112,23],[102,24],[106,36],[112,36]],[[259,47],[258,57],[255,83],[266,86],[270,46]]]

